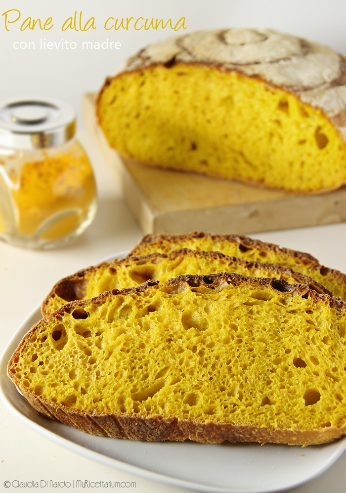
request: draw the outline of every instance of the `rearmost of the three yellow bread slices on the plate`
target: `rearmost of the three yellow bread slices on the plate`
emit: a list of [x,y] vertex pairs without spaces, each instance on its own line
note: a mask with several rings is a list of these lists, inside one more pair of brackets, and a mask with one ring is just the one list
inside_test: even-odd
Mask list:
[[[213,234],[193,231],[186,234],[147,234],[129,255],[147,255],[152,252],[170,253],[180,248],[219,251],[230,257],[250,262],[267,262],[289,267],[323,284],[334,296],[346,301],[346,275],[339,270],[322,266],[308,253],[281,248],[273,243],[238,234]],[[269,277],[269,276],[268,276]]]

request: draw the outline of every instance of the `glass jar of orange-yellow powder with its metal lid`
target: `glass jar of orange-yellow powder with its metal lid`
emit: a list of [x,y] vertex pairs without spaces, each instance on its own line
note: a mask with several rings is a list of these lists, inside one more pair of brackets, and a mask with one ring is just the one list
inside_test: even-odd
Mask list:
[[53,248],[96,214],[96,185],[74,137],[73,109],[57,100],[0,101],[0,239]]

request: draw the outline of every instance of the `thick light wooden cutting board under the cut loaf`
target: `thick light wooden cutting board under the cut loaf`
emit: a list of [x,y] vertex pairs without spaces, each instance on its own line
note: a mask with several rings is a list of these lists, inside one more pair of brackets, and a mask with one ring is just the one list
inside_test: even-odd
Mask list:
[[302,196],[149,168],[121,157],[108,145],[96,121],[94,94],[84,95],[83,114],[143,233],[204,230],[242,234],[346,221],[346,186]]

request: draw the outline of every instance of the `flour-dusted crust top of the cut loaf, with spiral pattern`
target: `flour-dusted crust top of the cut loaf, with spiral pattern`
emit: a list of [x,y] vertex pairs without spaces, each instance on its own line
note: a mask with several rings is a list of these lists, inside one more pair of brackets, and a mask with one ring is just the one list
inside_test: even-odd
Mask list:
[[321,108],[346,135],[346,58],[328,46],[273,29],[197,31],[148,45],[123,71],[179,62],[236,70],[289,90]]

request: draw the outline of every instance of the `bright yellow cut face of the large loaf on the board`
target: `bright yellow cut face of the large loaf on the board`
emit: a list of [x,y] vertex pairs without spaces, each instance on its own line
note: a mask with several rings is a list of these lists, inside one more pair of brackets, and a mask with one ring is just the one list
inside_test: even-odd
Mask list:
[[180,62],[121,73],[98,116],[110,145],[147,165],[293,192],[346,180],[344,138],[320,109],[234,70]]

